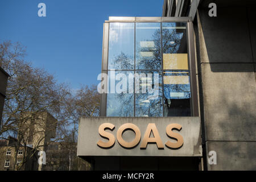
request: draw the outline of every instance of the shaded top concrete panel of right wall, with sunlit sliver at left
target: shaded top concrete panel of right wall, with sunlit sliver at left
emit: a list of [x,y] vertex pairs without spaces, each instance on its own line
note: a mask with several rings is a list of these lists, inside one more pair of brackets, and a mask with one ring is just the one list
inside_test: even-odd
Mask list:
[[199,15],[201,63],[253,62],[245,7],[218,8],[217,17],[210,17],[208,9],[201,9]]

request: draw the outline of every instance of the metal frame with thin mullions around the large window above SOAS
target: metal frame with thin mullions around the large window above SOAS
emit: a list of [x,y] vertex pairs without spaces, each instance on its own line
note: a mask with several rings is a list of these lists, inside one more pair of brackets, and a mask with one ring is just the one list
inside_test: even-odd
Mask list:
[[[187,48],[188,48],[188,65],[189,65],[189,77],[190,77],[190,86],[191,86],[191,117],[199,116],[199,104],[197,98],[197,81],[196,81],[196,63],[195,63],[195,45],[194,45],[194,30],[191,17],[125,17],[125,16],[110,16],[109,20],[106,20],[104,23],[103,31],[103,42],[102,42],[102,71],[101,73],[108,74],[108,49],[109,49],[109,23],[111,22],[160,22],[160,31],[162,32],[162,22],[187,22]],[[134,26],[134,31],[136,27]],[[135,32],[134,32],[134,41],[135,41]],[[161,43],[162,43],[162,34],[161,34]],[[134,44],[135,46],[135,44]],[[134,47],[134,71],[139,71],[135,69],[135,47]],[[161,55],[163,55],[163,50],[161,49]],[[161,57],[162,67],[163,67],[163,56]],[[115,70],[115,71],[133,71],[132,70]],[[143,69],[143,71],[146,71]],[[153,71],[148,69],[148,71]],[[156,70],[163,71],[163,69]],[[162,73],[163,74],[163,73]],[[163,75],[162,75],[163,79]],[[162,80],[163,82],[163,80]],[[135,81],[134,81],[135,84]],[[135,94],[134,94],[134,104],[135,104]],[[163,98],[162,98],[162,104]],[[107,93],[101,94],[101,104],[100,104],[100,116],[106,117],[106,105],[107,105]],[[134,117],[135,117],[135,106],[134,106]],[[164,109],[163,109],[164,115]]]

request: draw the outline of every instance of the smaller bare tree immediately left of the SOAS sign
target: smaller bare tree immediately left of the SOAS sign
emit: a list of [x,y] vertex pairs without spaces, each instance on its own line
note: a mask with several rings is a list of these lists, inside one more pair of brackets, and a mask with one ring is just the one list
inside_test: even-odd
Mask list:
[[[76,156],[77,131],[80,117],[96,117],[100,112],[100,94],[97,86],[81,86],[73,97],[65,102],[65,114],[69,118],[69,127],[57,130],[58,137],[52,146],[58,146],[47,151],[48,164],[55,165],[56,170],[88,170],[90,164]],[[51,148],[51,147],[50,147]],[[53,147],[54,148],[54,147]],[[51,165],[47,170],[52,169]]]

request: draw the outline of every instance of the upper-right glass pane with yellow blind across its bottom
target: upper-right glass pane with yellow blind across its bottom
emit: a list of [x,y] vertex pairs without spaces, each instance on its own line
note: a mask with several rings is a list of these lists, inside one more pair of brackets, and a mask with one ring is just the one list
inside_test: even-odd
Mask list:
[[188,70],[186,23],[162,23],[163,69]]

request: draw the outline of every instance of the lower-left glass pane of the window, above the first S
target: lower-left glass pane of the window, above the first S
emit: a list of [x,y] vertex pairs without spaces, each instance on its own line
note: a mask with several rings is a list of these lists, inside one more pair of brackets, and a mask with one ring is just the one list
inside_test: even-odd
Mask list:
[[106,116],[134,116],[134,72],[109,71]]

